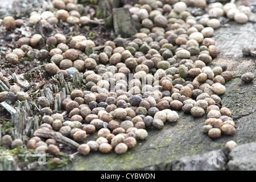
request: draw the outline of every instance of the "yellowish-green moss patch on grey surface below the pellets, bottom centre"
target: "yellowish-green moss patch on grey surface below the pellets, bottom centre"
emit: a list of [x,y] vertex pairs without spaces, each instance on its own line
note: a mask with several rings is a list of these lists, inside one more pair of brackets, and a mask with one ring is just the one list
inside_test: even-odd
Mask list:
[[[168,165],[172,161],[183,156],[204,154],[205,152],[220,149],[224,145],[222,140],[219,142],[211,141],[209,146],[209,142],[199,142],[195,144],[187,141],[177,142],[174,139],[166,138],[163,140],[163,143],[156,144],[156,146],[152,148],[143,150],[139,148],[143,148],[145,141],[142,141],[141,143],[142,146],[141,144],[138,144],[139,147],[135,147],[133,150],[126,152],[126,154],[117,155],[112,152],[104,155],[97,152],[84,158],[79,157],[79,162],[76,160],[76,163],[73,165],[75,165],[75,169],[85,170],[143,169],[147,166],[158,166],[160,164]],[[207,145],[207,147],[205,145]],[[148,156],[150,156],[150,158]],[[86,167],[82,168],[85,163]]]

